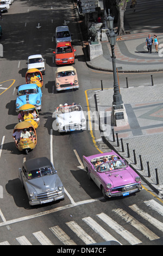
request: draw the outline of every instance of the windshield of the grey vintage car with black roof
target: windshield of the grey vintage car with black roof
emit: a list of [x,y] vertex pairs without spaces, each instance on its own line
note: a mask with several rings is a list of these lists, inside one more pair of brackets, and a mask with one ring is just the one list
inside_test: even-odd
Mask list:
[[55,172],[51,167],[42,167],[40,169],[31,170],[30,172],[28,172],[28,180],[40,178],[46,175],[52,175],[54,173]]

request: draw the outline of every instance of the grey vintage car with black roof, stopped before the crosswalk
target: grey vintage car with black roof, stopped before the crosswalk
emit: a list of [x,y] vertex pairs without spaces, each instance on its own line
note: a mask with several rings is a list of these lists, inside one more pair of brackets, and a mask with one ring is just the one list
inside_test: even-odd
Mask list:
[[27,160],[19,169],[18,176],[30,205],[64,200],[64,186],[47,157]]

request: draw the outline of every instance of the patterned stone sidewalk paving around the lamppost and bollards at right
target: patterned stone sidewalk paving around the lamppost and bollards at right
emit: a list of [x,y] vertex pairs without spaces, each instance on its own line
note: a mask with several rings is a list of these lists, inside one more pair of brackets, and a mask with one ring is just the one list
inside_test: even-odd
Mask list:
[[[153,72],[163,70],[163,57],[155,53],[155,46],[152,46],[152,54],[148,53],[146,38],[150,33],[157,34],[159,43],[163,44],[163,33],[161,24],[163,16],[161,15],[162,0],[137,0],[136,11],[127,10],[124,17],[124,25],[130,34],[118,36],[115,45],[116,66],[122,67],[118,72]],[[153,10],[154,11],[151,11]],[[124,26],[124,27],[125,27]],[[91,61],[86,61],[87,66],[92,69],[111,71],[111,48],[109,42],[102,42],[103,55]],[[160,49],[161,51],[161,49]],[[162,52],[163,53],[163,52]],[[163,55],[163,54],[162,54]],[[141,178],[147,182],[152,189],[162,198],[163,191],[163,84],[155,86],[139,86],[133,88],[121,88],[121,95],[129,124],[127,126],[112,127],[110,119],[107,124],[110,126],[109,134],[102,133],[106,143],[112,145],[118,153],[125,157]],[[112,107],[113,89],[99,90],[96,92],[96,104],[98,113],[108,112],[109,118]],[[105,119],[101,119],[101,127],[105,126]],[[117,147],[117,141],[113,141],[112,129],[118,133],[118,139],[123,140],[124,152]],[[116,135],[115,135],[116,137]],[[127,144],[129,153],[127,154]],[[133,150],[135,150],[137,164],[135,164]],[[140,164],[140,155],[142,166]],[[128,157],[129,156],[129,157]],[[149,177],[147,162],[151,175]],[[158,179],[156,179],[156,170],[158,169]],[[143,169],[143,170],[142,170]]]

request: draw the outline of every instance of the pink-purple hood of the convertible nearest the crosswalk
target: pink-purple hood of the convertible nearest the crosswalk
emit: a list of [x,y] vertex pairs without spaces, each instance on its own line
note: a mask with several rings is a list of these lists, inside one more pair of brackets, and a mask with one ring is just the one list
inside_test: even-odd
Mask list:
[[111,183],[114,187],[134,183],[135,177],[127,170],[115,170],[113,172],[101,173],[106,184]]

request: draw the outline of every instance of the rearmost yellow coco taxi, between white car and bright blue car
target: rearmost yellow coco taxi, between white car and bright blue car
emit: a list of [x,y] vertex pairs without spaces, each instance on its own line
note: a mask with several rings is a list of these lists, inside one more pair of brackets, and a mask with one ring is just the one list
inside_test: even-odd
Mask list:
[[43,86],[42,73],[39,69],[28,69],[26,72],[26,83],[35,83],[38,87]]

